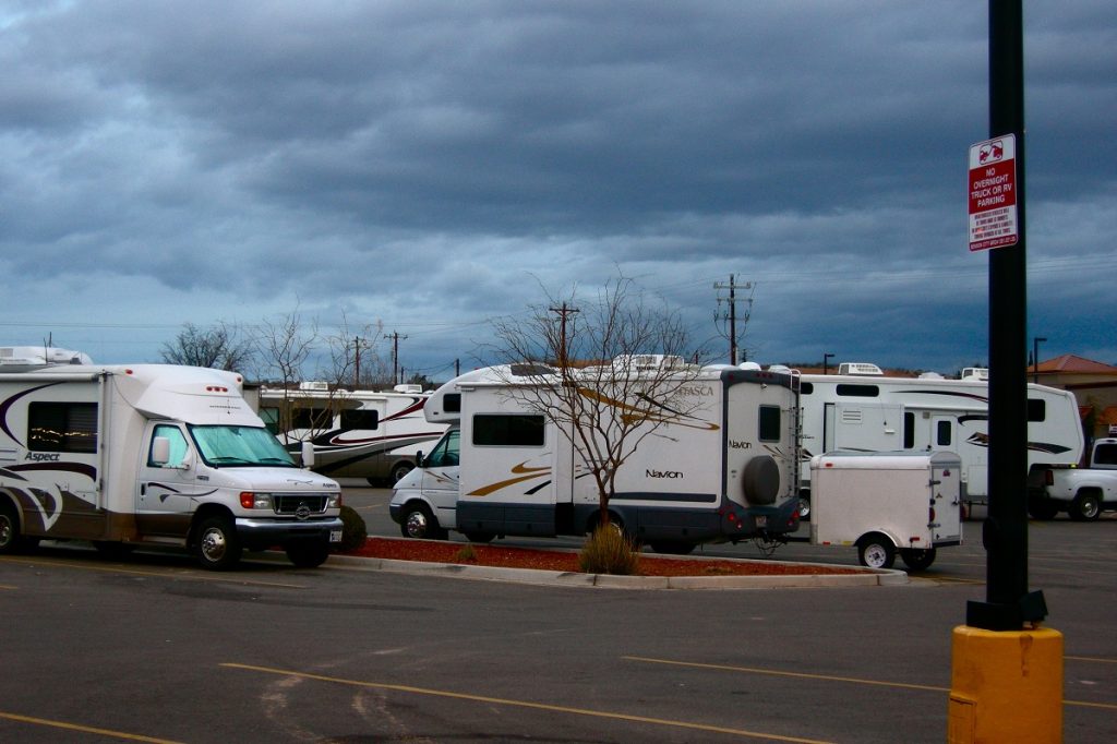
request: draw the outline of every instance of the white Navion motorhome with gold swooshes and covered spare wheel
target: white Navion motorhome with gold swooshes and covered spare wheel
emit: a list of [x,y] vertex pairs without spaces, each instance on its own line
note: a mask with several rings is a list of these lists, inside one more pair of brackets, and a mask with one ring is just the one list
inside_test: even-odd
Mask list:
[[[593,530],[600,511],[590,455],[513,392],[538,380],[486,368],[436,391],[427,418],[454,426],[395,486],[390,513],[404,536],[456,530],[488,541]],[[575,384],[607,416],[661,419],[617,470],[609,517],[628,534],[685,553],[703,542],[781,542],[799,527],[798,376],[704,368],[668,400],[611,400]]]

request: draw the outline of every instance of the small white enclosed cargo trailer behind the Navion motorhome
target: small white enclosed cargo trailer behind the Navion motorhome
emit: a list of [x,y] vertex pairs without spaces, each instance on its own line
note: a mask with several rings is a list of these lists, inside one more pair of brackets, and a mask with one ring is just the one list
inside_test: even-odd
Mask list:
[[862,565],[913,571],[962,544],[962,460],[954,452],[828,452],[811,458],[811,543],[858,549]]

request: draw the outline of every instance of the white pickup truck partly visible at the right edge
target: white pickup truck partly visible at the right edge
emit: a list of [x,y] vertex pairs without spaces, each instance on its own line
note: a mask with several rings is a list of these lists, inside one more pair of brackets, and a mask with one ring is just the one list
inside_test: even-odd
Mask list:
[[1098,439],[1090,451],[1090,467],[1047,467],[1028,478],[1028,513],[1051,519],[1066,512],[1079,522],[1097,519],[1102,511],[1117,509],[1117,438]]

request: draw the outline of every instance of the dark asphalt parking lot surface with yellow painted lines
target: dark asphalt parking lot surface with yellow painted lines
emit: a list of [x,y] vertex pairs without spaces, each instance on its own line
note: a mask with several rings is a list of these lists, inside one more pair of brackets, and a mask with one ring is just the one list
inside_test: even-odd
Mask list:
[[[388,495],[346,489],[372,534],[398,534]],[[943,742],[977,535],[903,586],[733,591],[47,546],[0,559],[0,741]],[[1065,636],[1065,741],[1117,741],[1117,518],[1033,523],[1030,546]]]

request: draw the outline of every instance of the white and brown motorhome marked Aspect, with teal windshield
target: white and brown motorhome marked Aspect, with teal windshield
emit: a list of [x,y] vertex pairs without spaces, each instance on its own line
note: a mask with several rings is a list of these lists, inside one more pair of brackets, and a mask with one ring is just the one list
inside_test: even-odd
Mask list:
[[342,538],[341,489],[292,461],[241,385],[161,364],[0,374],[0,553],[42,538],[174,545],[222,570],[281,545],[321,564]]

